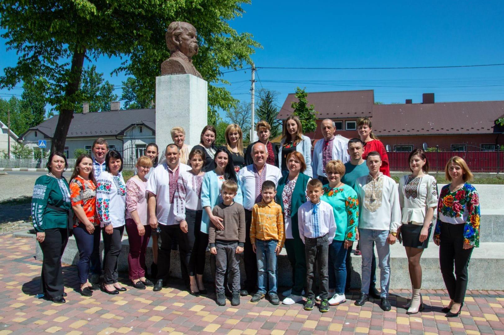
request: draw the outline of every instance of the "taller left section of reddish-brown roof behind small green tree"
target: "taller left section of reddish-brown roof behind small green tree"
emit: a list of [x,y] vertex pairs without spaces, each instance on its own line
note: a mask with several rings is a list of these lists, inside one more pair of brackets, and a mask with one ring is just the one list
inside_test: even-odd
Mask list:
[[[308,93],[306,99],[318,112],[318,119],[355,118],[371,116],[374,91],[313,92]],[[285,99],[278,113],[278,119],[285,120],[292,114],[293,109],[290,106],[292,101],[297,101],[294,93],[289,94]]]

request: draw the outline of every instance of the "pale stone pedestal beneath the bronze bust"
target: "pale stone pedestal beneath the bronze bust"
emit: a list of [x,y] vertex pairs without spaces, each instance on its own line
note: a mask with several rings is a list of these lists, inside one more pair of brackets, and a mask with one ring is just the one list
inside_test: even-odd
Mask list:
[[208,83],[193,75],[156,77],[156,144],[164,152],[173,143],[170,129],[185,130],[185,144],[190,150],[200,143],[207,125]]

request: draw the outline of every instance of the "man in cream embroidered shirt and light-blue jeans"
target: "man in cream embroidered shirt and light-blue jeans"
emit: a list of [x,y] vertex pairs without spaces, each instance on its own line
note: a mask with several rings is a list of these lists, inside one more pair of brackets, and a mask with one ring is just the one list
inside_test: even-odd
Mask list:
[[378,152],[371,151],[366,164],[369,174],[357,178],[355,182],[359,197],[359,244],[362,253],[362,284],[355,305],[362,306],[368,299],[374,242],[380,266],[381,307],[390,311],[390,245],[396,243],[397,229],[401,225],[399,191],[394,179],[380,172],[382,157]]

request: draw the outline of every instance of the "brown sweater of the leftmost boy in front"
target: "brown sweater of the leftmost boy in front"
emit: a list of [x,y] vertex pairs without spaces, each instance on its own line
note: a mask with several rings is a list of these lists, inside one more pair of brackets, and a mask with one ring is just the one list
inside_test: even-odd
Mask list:
[[216,217],[224,219],[222,224],[224,230],[218,230],[214,224],[210,222],[210,230],[208,242],[210,247],[215,246],[215,241],[238,241],[238,246],[245,244],[245,210],[243,206],[233,202],[230,206],[223,203],[215,206],[212,214]]

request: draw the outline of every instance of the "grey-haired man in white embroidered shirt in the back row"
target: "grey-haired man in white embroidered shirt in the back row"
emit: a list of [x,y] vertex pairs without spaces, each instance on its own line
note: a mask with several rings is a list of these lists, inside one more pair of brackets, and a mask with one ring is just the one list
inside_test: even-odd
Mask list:
[[329,183],[326,174],[326,164],[332,160],[340,160],[346,163],[350,160],[347,153],[348,139],[342,136],[334,136],[336,127],[333,120],[325,119],[321,123],[324,139],[319,140],[313,147],[311,169],[313,179],[319,179],[325,185]]

